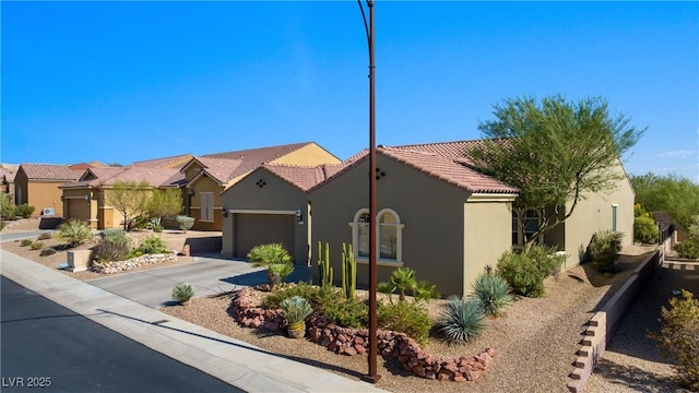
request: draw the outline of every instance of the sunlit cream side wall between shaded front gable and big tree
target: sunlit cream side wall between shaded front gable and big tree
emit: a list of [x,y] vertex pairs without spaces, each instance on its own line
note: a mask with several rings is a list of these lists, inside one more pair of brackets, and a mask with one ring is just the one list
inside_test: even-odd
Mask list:
[[512,248],[511,203],[469,200],[464,205],[463,225],[463,285],[469,294],[474,279],[485,267],[489,265],[495,269],[498,258]]

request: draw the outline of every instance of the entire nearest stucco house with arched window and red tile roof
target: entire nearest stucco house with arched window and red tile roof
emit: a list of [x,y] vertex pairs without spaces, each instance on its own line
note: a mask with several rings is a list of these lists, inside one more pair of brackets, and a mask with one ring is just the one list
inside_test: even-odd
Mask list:
[[[476,143],[378,147],[379,281],[407,266],[442,295],[466,295],[486,265],[520,247],[526,228],[518,227],[511,209],[519,190],[471,166],[464,152]],[[620,162],[611,170],[625,175]],[[287,248],[297,263],[315,264],[321,241],[330,245],[331,263],[339,269],[344,242],[366,265],[368,171],[367,152],[341,165],[259,167],[222,194],[222,253],[244,258],[254,245],[281,241],[293,245]],[[616,186],[584,195],[574,214],[544,237],[544,243],[567,254],[564,269],[580,263],[597,230],[623,231],[625,243],[632,241],[633,191],[626,176]],[[367,283],[367,269],[358,270],[357,281]]]

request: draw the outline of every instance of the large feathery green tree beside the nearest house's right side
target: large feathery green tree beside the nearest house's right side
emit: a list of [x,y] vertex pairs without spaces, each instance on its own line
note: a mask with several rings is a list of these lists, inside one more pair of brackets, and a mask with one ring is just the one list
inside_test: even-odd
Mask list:
[[569,218],[587,193],[615,189],[625,174],[613,168],[644,131],[629,127],[624,116],[611,116],[602,98],[506,99],[494,115],[495,120],[478,126],[485,140],[465,155],[484,172],[520,189],[512,203],[520,228],[526,212],[540,215],[536,229],[525,234],[525,251]]

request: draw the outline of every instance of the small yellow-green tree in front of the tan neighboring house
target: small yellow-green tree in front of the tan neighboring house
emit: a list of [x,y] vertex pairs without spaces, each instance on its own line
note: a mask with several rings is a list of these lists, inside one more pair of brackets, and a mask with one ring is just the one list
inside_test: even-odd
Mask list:
[[147,181],[117,181],[105,190],[105,203],[111,205],[123,216],[123,230],[129,229],[133,217],[144,215],[151,200],[153,188]]

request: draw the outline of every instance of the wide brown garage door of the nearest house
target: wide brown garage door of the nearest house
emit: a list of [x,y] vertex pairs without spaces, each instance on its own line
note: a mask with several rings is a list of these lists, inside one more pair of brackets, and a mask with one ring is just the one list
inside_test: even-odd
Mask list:
[[236,214],[235,255],[246,258],[254,246],[275,242],[294,255],[295,218],[288,214]]

